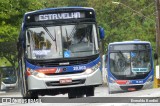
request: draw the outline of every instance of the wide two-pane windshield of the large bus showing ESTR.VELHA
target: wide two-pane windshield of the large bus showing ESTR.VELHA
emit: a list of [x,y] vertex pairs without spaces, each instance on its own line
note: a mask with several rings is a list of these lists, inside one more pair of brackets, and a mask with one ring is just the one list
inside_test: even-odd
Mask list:
[[97,53],[95,24],[38,26],[26,30],[29,59],[84,57]]

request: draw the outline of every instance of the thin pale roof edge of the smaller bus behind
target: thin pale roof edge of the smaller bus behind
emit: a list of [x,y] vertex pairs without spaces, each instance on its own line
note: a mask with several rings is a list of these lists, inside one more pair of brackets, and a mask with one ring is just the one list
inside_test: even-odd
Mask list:
[[113,42],[109,43],[109,45],[117,45],[117,44],[150,44],[149,41],[122,41],[122,42]]

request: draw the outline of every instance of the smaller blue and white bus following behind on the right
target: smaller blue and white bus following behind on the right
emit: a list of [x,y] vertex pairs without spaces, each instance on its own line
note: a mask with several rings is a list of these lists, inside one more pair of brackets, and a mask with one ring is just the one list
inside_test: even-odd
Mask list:
[[152,88],[153,68],[150,42],[110,43],[107,53],[109,93]]

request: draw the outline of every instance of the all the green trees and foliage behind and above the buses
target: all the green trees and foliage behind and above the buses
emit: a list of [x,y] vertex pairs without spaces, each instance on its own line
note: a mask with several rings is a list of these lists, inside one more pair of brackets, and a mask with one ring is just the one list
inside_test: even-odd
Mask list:
[[155,50],[154,0],[114,1],[120,2],[119,4],[112,1],[114,0],[1,0],[0,61],[5,58],[9,65],[16,66],[16,42],[25,12],[63,6],[93,7],[98,24],[105,29],[105,48],[110,42],[140,39],[150,41]]

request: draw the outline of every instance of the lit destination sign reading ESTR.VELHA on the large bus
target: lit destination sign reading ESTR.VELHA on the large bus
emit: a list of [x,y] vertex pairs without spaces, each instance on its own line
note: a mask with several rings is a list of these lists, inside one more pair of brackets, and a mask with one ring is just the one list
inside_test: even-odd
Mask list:
[[49,21],[58,19],[73,19],[84,18],[85,14],[82,12],[57,13],[57,14],[41,14],[35,17],[35,21]]

